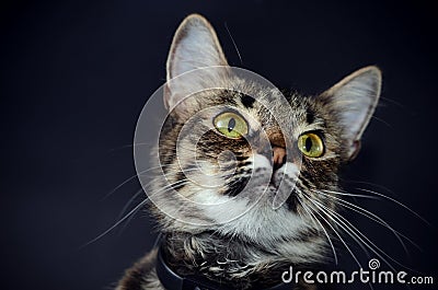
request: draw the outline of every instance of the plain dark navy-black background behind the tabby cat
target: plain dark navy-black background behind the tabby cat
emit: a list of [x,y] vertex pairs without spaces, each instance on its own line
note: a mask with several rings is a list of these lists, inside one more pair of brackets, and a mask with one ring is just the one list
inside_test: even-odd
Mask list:
[[[140,188],[134,178],[104,198],[136,174],[137,117],[164,82],[175,28],[193,12],[211,21],[231,65],[283,88],[318,93],[362,66],[382,69],[381,106],[345,186],[394,197],[433,225],[394,202],[358,200],[423,248],[407,243],[406,255],[390,231],[346,214],[396,260],[437,280],[433,1],[14,1],[0,12],[1,288],[108,289],[150,250],[154,234],[141,212],[83,245]],[[357,268],[338,253],[338,267]]]

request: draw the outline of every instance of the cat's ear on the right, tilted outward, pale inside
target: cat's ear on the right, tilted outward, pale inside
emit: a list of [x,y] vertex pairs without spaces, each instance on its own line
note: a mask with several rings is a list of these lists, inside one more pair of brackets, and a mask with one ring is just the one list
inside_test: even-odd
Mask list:
[[380,69],[370,66],[353,72],[321,95],[342,124],[346,160],[353,160],[360,149],[360,138],[379,102],[381,83]]

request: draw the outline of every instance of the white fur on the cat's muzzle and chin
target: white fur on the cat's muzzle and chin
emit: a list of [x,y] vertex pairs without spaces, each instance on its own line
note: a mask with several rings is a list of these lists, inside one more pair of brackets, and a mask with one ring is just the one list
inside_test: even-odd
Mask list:
[[[247,166],[251,166],[253,171],[264,169],[266,173],[258,174],[270,174],[272,165],[266,156],[254,154],[252,160],[252,164]],[[292,163],[284,165],[279,171],[283,171],[280,175],[287,174],[290,177],[297,176],[299,172]],[[194,196],[194,200],[199,202],[199,210],[206,217],[216,221],[217,224],[214,228],[223,234],[240,235],[253,242],[273,245],[279,239],[297,237],[298,233],[308,228],[307,222],[286,206],[273,209],[275,188],[269,186],[267,190],[264,190],[266,188],[262,187],[264,186],[252,188],[254,195],[261,196],[249,196],[250,192],[243,197],[223,196],[211,189],[200,190]],[[288,252],[291,248],[285,248],[285,251]]]

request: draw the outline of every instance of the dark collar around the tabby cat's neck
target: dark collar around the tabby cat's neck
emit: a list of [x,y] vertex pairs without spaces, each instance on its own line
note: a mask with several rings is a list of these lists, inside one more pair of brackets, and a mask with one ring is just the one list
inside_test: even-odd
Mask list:
[[[162,243],[160,244],[157,255],[155,270],[161,285],[166,290],[232,290],[230,287],[208,280],[199,275],[182,277],[176,274],[165,262]],[[281,282],[277,286],[266,288],[265,290],[290,290],[291,287],[291,283]],[[257,288],[257,290],[263,289]]]

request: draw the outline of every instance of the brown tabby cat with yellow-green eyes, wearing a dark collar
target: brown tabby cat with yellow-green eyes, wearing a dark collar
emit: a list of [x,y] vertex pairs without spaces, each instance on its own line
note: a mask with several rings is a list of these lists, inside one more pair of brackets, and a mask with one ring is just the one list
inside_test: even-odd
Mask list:
[[301,280],[281,288],[281,274],[330,260],[332,196],[360,149],[381,72],[365,67],[316,96],[240,72],[205,18],[182,22],[153,150],[162,174],[148,188],[162,235],[117,290],[315,289]]

